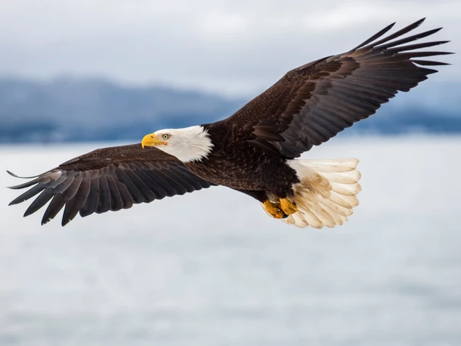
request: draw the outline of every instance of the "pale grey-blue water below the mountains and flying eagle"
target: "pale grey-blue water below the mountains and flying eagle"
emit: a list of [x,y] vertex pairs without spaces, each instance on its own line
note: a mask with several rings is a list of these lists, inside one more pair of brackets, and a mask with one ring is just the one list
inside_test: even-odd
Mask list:
[[[93,147],[0,147],[0,170]],[[316,148],[361,159],[361,205],[333,230],[224,188],[41,227],[3,190],[0,345],[461,345],[460,152],[460,137]]]

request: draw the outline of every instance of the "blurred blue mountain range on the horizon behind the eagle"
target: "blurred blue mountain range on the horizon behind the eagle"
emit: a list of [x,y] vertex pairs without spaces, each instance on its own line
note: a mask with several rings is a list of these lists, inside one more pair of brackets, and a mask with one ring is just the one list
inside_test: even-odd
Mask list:
[[[345,134],[461,133],[461,82],[423,83],[417,89],[419,93],[397,95],[377,116]],[[50,82],[1,78],[0,142],[139,141],[156,129],[226,118],[254,96],[226,98],[166,86],[125,86],[98,78]]]

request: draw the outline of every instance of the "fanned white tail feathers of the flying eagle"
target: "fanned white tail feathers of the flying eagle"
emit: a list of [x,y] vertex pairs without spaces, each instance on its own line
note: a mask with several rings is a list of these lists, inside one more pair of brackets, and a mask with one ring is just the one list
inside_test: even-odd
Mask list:
[[294,196],[288,197],[296,203],[298,212],[282,221],[314,228],[344,224],[352,215],[352,208],[359,205],[358,163],[356,158],[287,161],[300,179],[300,183],[293,185]]

